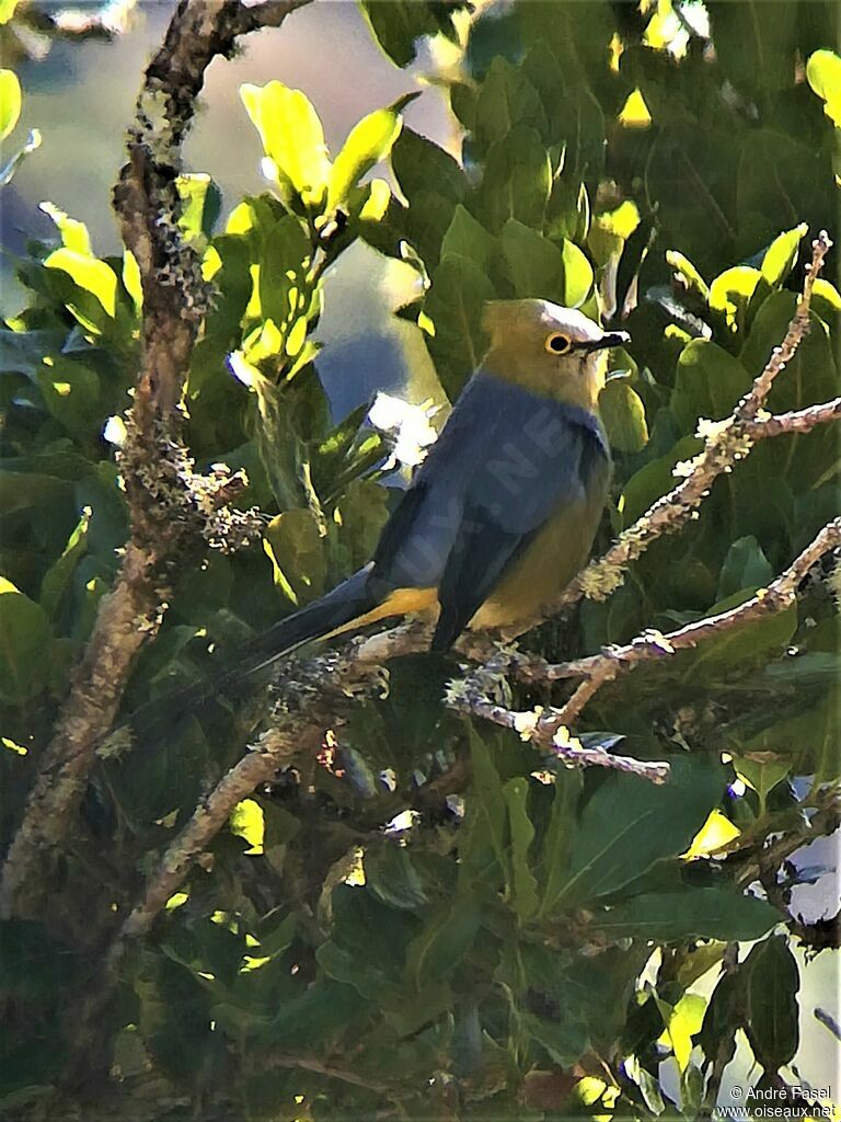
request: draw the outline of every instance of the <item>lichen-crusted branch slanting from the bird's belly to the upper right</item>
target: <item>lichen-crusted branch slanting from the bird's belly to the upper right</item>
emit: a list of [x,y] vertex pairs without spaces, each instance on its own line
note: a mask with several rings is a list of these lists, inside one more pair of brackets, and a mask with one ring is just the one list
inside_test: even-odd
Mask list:
[[[603,557],[591,561],[579,573],[549,606],[552,613],[569,610],[584,597],[603,600],[616,591],[625,580],[628,565],[663,534],[681,530],[701,506],[715,479],[748,454],[756,439],[754,425],[761,419],[761,410],[774,379],[792,360],[808,330],[812,289],[831,248],[829,234],[821,231],[812,242],[812,260],[805,266],[806,275],[797,311],[788,324],[783,342],[774,348],[765,368],[732,415],[726,421],[702,422],[699,426],[704,448],[688,466],[686,477],[623,531]],[[796,427],[797,424],[808,426],[807,421],[802,419],[791,430],[779,431],[803,431]],[[766,434],[771,435],[771,429]]]

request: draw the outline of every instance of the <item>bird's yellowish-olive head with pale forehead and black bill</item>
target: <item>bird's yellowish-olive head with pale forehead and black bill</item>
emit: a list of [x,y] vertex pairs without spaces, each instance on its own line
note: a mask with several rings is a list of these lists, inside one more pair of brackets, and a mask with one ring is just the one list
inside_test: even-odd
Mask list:
[[533,393],[595,408],[604,386],[607,352],[629,339],[603,331],[574,307],[547,300],[495,300],[486,304],[490,339],[482,368]]

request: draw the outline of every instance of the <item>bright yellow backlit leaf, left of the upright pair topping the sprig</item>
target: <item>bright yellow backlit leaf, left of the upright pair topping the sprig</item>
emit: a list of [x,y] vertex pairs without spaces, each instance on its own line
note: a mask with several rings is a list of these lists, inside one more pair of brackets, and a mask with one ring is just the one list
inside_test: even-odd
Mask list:
[[240,96],[257,127],[281,188],[321,208],[330,182],[330,159],[318,114],[301,90],[283,82],[240,86]]

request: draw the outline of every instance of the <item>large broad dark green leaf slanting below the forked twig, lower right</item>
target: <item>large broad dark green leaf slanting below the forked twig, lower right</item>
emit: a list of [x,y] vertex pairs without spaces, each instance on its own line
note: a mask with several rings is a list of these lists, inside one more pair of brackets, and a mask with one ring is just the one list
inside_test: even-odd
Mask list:
[[673,758],[663,787],[609,775],[581,813],[556,905],[618,892],[657,861],[683,853],[722,790],[721,769],[703,758]]

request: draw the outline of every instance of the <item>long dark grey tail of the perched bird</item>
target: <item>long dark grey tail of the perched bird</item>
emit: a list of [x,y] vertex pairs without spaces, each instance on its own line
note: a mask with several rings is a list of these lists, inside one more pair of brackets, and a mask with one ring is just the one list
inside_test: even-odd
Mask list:
[[309,640],[329,635],[377,606],[369,588],[370,565],[342,581],[332,592],[269,627],[231,655],[228,668],[198,686],[176,690],[140,706],[129,717],[133,734],[146,737],[213,701],[233,701],[249,679]]

